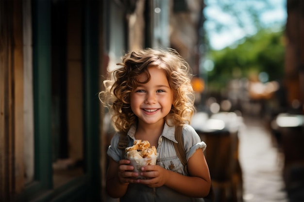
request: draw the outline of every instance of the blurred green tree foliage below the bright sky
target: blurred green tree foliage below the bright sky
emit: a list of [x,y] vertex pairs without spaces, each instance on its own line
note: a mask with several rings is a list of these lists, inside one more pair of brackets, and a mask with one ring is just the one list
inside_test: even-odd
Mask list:
[[228,81],[248,78],[252,73],[266,72],[269,80],[278,80],[284,71],[284,32],[261,29],[222,50],[210,50],[207,58],[214,66],[207,72],[210,91],[220,91]]

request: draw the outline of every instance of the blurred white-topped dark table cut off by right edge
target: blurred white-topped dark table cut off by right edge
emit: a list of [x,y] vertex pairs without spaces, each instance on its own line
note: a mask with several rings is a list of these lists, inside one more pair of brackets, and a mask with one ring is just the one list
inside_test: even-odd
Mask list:
[[283,178],[290,201],[304,201],[304,115],[281,113],[272,122],[284,154]]

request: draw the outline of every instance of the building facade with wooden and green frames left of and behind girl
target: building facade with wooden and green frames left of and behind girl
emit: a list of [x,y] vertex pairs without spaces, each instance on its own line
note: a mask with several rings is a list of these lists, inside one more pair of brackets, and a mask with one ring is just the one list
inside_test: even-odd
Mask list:
[[198,74],[202,10],[203,0],[1,0],[0,201],[102,201],[107,67],[173,47]]

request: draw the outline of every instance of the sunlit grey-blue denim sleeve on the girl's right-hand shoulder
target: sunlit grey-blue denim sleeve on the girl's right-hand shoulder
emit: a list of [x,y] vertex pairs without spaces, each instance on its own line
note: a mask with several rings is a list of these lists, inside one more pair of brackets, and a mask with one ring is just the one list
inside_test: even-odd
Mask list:
[[197,149],[206,149],[207,145],[203,142],[195,129],[188,124],[183,128],[184,147],[186,150],[186,160],[196,152]]

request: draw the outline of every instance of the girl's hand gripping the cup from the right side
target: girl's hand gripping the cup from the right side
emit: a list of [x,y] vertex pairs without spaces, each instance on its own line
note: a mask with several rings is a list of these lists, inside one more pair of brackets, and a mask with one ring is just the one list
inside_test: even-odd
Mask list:
[[143,166],[141,168],[140,176],[148,179],[139,179],[138,183],[147,185],[149,187],[163,186],[168,180],[169,171],[159,165]]

